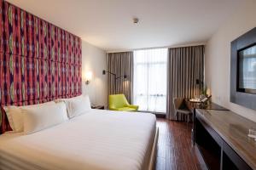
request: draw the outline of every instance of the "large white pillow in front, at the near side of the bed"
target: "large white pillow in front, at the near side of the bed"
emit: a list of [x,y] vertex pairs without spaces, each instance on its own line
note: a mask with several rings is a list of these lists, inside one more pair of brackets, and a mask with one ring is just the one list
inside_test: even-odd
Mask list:
[[35,133],[68,120],[66,105],[63,102],[55,105],[22,108],[21,112],[24,116],[25,134]]

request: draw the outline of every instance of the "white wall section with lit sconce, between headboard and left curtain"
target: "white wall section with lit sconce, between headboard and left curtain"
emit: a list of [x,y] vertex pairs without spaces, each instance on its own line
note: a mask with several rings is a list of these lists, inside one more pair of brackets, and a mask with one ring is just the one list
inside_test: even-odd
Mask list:
[[[83,94],[90,96],[90,102],[96,105],[107,106],[107,77],[102,75],[102,70],[107,68],[106,52],[96,48],[88,42],[82,42],[82,77]],[[87,71],[93,73],[91,82],[85,85],[84,75]]]

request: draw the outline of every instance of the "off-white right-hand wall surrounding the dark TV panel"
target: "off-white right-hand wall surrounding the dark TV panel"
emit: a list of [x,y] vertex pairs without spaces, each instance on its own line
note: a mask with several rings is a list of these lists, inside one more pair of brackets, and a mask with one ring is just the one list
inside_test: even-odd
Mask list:
[[256,1],[244,0],[207,42],[206,81],[212,101],[256,122],[256,111],[230,103],[230,42],[256,26]]

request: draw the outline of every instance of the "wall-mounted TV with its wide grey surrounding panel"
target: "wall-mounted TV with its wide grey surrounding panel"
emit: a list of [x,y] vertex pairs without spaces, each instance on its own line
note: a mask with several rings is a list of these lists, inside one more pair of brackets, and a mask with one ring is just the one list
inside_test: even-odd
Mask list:
[[231,42],[230,102],[256,110],[256,27]]

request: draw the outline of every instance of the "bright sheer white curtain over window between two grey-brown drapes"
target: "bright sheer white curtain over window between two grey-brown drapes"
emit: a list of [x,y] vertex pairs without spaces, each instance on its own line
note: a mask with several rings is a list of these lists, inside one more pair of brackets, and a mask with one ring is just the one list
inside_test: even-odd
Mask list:
[[140,111],[166,112],[167,48],[134,51],[133,103]]

